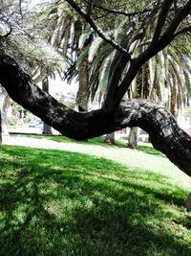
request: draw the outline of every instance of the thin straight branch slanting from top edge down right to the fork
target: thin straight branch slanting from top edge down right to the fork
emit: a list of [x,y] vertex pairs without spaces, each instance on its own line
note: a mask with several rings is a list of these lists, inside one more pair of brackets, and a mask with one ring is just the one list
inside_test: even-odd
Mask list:
[[103,40],[112,45],[117,51],[125,56],[125,58],[129,60],[131,59],[131,55],[123,47],[118,45],[117,42],[112,40],[109,36],[105,35],[104,32],[96,25],[95,21],[85,12],[83,12],[83,10],[74,2],[74,0],[65,1],[89,23],[89,25],[96,31],[97,35],[99,35]]

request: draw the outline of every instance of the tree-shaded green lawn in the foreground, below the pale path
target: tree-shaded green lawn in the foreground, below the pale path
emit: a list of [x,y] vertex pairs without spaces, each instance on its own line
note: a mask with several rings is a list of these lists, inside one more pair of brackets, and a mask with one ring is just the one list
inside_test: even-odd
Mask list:
[[4,146],[0,255],[190,256],[187,193],[103,158]]

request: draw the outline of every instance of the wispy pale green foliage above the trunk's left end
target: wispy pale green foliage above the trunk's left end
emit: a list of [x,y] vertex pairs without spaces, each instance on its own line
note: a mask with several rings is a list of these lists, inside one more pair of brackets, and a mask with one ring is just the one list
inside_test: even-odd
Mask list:
[[39,19],[36,19],[36,12],[28,10],[25,2],[19,6],[19,1],[4,1],[0,3],[0,7],[0,28],[2,31],[8,31],[7,35],[0,35],[0,46],[6,49],[33,79],[42,81],[46,76],[59,73],[67,67],[66,59],[45,43],[45,29],[41,23],[37,24]]

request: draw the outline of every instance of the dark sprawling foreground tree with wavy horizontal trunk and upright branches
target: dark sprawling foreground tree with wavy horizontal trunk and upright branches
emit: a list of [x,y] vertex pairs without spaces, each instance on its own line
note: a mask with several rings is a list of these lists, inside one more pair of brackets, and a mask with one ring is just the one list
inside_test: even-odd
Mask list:
[[[126,13],[130,17],[130,22],[125,24],[120,43],[106,35],[96,25],[92,14],[94,1],[86,2],[91,3],[89,12],[84,12],[73,0],[65,2],[116,49],[102,107],[87,113],[77,113],[58,103],[39,89],[15,59],[1,49],[0,82],[11,98],[62,134],[78,140],[110,133],[127,126],[143,128],[149,133],[156,149],[164,152],[187,175],[191,175],[191,138],[177,126],[170,112],[163,106],[147,100],[132,99],[122,102],[138,70],[146,61],[156,56],[179,35],[186,39],[183,34],[191,30],[191,1],[158,1],[149,10],[143,7],[139,12]],[[146,4],[146,1],[144,3]],[[104,8],[107,9],[107,6]],[[153,23],[154,29],[150,30]],[[146,47],[138,54],[138,47],[142,44]]]

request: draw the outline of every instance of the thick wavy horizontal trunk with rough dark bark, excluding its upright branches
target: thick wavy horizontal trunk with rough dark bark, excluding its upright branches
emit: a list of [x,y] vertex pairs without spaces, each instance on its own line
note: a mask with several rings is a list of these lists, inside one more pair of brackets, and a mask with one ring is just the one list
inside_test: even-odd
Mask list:
[[0,83],[11,98],[62,134],[84,140],[126,127],[143,128],[156,149],[191,176],[191,137],[179,128],[163,106],[145,100],[130,100],[113,113],[103,109],[77,113],[43,92],[13,58],[0,54]]

